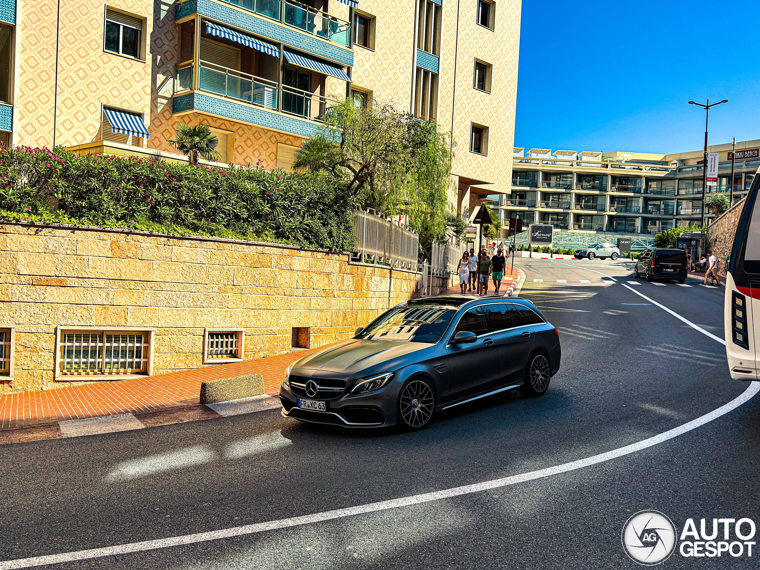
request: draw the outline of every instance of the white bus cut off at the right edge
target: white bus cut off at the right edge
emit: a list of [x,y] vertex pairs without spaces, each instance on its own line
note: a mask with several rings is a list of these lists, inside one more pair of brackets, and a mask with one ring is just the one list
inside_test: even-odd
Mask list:
[[[760,169],[758,169],[760,174]],[[758,379],[760,339],[760,204],[757,202],[760,176],[755,174],[749,189],[726,277],[724,327],[726,353],[731,378]],[[755,329],[755,323],[758,328]],[[760,332],[758,332],[760,334]]]

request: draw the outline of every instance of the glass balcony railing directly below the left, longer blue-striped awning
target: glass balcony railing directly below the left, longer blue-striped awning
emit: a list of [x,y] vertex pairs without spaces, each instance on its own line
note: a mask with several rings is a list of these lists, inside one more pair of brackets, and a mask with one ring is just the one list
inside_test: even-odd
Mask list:
[[[183,71],[180,69],[179,72]],[[277,81],[259,78],[209,62],[201,62],[198,70],[198,88],[223,97],[277,109],[280,90]]]

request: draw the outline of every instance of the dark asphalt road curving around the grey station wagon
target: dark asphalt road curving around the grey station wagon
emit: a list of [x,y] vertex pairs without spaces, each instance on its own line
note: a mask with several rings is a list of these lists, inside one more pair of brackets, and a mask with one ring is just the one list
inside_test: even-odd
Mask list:
[[[527,276],[521,296],[536,302],[562,340],[562,368],[543,397],[511,391],[440,413],[415,433],[305,425],[270,410],[5,445],[0,560],[226,529],[518,475],[639,442],[748,388],[730,378],[722,344],[623,287],[634,280],[625,262],[518,265]],[[629,287],[723,337],[723,289],[694,280],[687,281],[693,287],[640,281]],[[676,528],[686,518],[760,522],[758,420],[755,397],[667,442],[568,473],[54,567],[637,568],[620,543],[636,511],[662,511]],[[676,553],[663,568],[697,566],[757,564],[754,551],[752,558]]]

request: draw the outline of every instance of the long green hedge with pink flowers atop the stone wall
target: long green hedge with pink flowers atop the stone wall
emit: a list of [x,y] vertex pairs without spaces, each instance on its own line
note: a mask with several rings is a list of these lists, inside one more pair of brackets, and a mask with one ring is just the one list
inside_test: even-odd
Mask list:
[[345,252],[353,249],[355,209],[356,201],[319,173],[0,148],[0,211],[22,217]]

